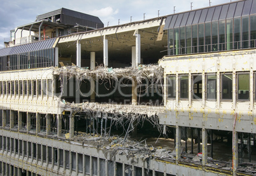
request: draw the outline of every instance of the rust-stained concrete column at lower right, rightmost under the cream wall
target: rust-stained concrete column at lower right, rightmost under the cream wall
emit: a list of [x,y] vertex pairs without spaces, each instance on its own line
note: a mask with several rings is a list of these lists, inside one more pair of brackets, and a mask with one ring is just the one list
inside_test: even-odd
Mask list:
[[236,170],[238,169],[238,133],[235,131],[233,132],[232,139],[232,168],[233,175],[235,176]]

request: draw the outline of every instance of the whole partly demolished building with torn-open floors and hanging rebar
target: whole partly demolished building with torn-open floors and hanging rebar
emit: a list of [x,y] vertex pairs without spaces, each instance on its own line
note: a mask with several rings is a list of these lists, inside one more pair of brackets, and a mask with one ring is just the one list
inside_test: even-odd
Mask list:
[[38,41],[0,50],[0,175],[255,174],[255,3],[17,27]]

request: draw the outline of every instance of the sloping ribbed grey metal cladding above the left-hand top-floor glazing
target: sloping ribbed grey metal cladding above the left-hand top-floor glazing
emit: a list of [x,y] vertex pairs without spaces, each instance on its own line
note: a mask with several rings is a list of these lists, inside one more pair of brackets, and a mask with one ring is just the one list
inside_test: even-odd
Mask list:
[[45,41],[38,41],[36,43],[22,44],[10,48],[3,48],[0,50],[0,57],[6,55],[16,55],[30,51],[46,50],[52,48],[56,39],[47,39]]

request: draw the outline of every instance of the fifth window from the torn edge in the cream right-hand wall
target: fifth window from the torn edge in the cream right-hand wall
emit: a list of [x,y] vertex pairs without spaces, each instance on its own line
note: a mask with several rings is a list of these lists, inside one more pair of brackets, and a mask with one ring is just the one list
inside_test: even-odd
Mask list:
[[222,74],[222,100],[232,100],[232,73]]

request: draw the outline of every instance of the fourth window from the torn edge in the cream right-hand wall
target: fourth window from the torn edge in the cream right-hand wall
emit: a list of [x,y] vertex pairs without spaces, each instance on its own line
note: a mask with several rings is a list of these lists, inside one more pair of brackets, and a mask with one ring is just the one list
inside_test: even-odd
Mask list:
[[217,75],[208,74],[206,76],[206,98],[216,100],[217,98]]

